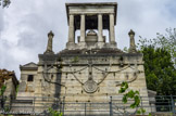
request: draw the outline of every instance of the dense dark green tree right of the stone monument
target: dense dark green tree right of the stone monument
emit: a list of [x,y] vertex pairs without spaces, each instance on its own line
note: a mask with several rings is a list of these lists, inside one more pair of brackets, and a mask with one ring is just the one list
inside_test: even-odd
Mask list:
[[158,94],[176,94],[176,69],[171,53],[162,48],[148,46],[142,49],[147,87]]

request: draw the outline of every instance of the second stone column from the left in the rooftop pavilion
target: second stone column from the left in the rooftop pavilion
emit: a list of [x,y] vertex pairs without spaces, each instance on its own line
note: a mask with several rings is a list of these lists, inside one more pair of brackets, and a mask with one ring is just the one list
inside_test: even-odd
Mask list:
[[85,23],[85,14],[80,15],[80,42],[85,42],[86,37],[86,23]]

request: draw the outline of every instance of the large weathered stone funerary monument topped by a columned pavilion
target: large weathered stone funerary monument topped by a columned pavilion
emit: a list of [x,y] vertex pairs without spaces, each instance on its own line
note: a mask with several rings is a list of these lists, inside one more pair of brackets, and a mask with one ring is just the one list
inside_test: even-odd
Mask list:
[[[64,103],[109,103],[111,96],[122,95],[118,90],[123,81],[148,96],[142,54],[136,52],[135,33],[128,33],[129,53],[116,47],[117,3],[66,3],[66,48],[54,53],[54,34],[48,34],[47,50],[38,55],[39,62],[20,67],[16,99],[35,96],[34,106],[39,112],[48,108],[38,107],[48,106],[49,99],[53,103],[55,99]],[[77,37],[76,30],[80,33]],[[104,36],[103,30],[108,30],[109,36]],[[68,105],[64,109],[68,109]]]

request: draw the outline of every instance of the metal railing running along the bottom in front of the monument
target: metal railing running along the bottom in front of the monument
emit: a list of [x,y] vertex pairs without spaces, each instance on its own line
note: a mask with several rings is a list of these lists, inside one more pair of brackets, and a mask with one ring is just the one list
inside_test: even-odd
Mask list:
[[141,115],[168,113],[176,114],[176,95],[141,96],[140,105],[131,108],[133,100],[126,104],[122,96],[111,96],[109,102],[64,102],[58,98],[7,98],[0,96],[0,114],[33,114],[49,115],[49,107],[59,111],[63,116],[134,116],[138,109],[144,109]]

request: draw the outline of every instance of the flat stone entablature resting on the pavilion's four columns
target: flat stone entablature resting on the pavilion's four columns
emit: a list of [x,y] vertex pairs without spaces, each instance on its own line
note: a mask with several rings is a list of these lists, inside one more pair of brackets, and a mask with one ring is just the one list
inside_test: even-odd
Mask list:
[[[66,3],[67,21],[70,14],[114,14],[116,25],[117,3],[116,2],[95,2],[95,3]],[[70,9],[71,8],[71,9]],[[106,18],[108,21],[109,18]],[[79,28],[79,26],[78,26]],[[90,29],[90,28],[89,28]],[[108,29],[108,27],[106,27]]]

